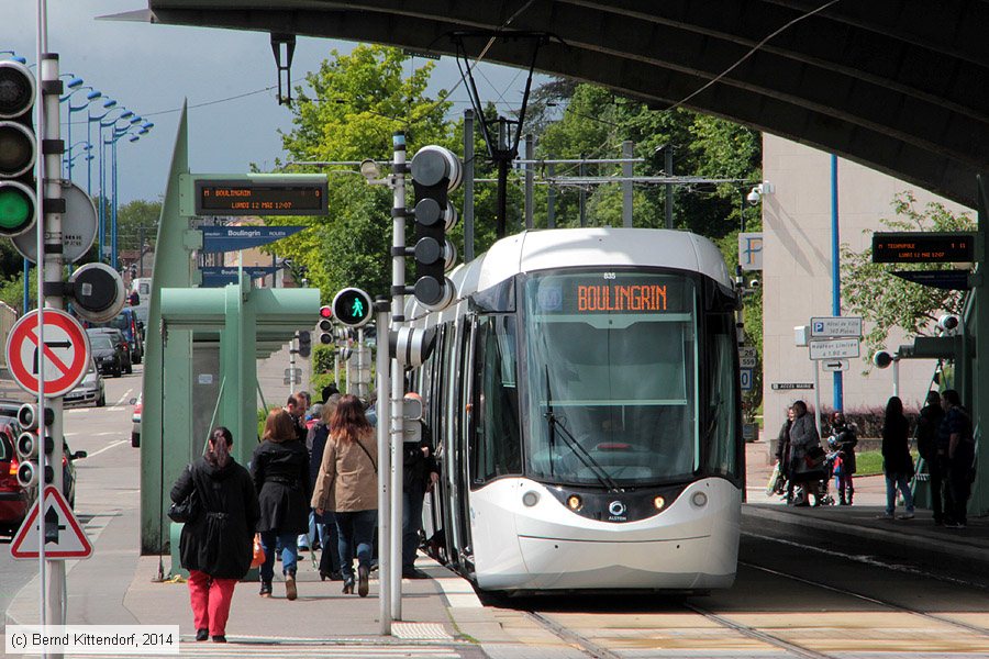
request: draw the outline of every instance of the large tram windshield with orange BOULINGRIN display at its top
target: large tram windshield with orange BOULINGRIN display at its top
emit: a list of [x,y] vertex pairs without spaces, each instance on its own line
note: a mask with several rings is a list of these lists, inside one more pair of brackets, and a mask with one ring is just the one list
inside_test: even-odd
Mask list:
[[693,280],[566,271],[523,287],[526,471],[607,488],[690,478],[699,444]]

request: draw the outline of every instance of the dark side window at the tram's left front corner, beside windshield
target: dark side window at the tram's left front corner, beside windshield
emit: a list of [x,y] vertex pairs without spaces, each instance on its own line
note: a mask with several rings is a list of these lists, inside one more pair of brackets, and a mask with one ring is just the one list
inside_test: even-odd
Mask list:
[[515,319],[479,316],[475,344],[475,427],[470,434],[471,482],[522,473]]

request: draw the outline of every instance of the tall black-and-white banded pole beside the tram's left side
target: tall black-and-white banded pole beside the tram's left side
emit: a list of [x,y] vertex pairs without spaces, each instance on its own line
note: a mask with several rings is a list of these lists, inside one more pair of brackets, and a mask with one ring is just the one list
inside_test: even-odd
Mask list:
[[[392,156],[392,242],[391,242],[391,331],[398,332],[404,322],[405,309],[405,134],[391,136]],[[381,344],[379,344],[381,345]],[[388,345],[388,344],[384,344]],[[402,399],[405,387],[402,366],[391,360],[391,618],[402,619]],[[384,478],[384,474],[382,474]],[[384,579],[384,576],[382,576]]]

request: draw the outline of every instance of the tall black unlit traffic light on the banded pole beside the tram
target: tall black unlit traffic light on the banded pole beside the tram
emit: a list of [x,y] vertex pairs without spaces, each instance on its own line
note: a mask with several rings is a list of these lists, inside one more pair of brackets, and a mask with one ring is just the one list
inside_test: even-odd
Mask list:
[[442,146],[424,146],[412,157],[412,186],[415,188],[415,286],[419,302],[440,310],[453,301],[454,286],[445,272],[457,260],[457,250],[446,232],[457,223],[457,211],[449,192],[460,186],[460,159]]

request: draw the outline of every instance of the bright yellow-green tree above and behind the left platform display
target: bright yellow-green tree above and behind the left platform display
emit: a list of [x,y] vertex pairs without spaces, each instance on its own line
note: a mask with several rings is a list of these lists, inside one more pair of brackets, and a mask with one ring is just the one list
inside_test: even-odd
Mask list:
[[[459,152],[454,125],[446,120],[449,103],[426,93],[434,65],[407,72],[408,59],[401,51],[385,46],[359,45],[348,55],[333,51],[318,71],[305,77],[308,89],[297,89],[293,129],[282,135],[289,159],[387,161],[392,133],[399,130],[405,131],[410,155],[426,144]],[[441,91],[440,99],[443,96]],[[329,172],[329,217],[269,217],[269,224],[310,227],[274,248],[305,269],[324,301],[346,286],[388,294],[391,191],[368,186],[353,168]]]

